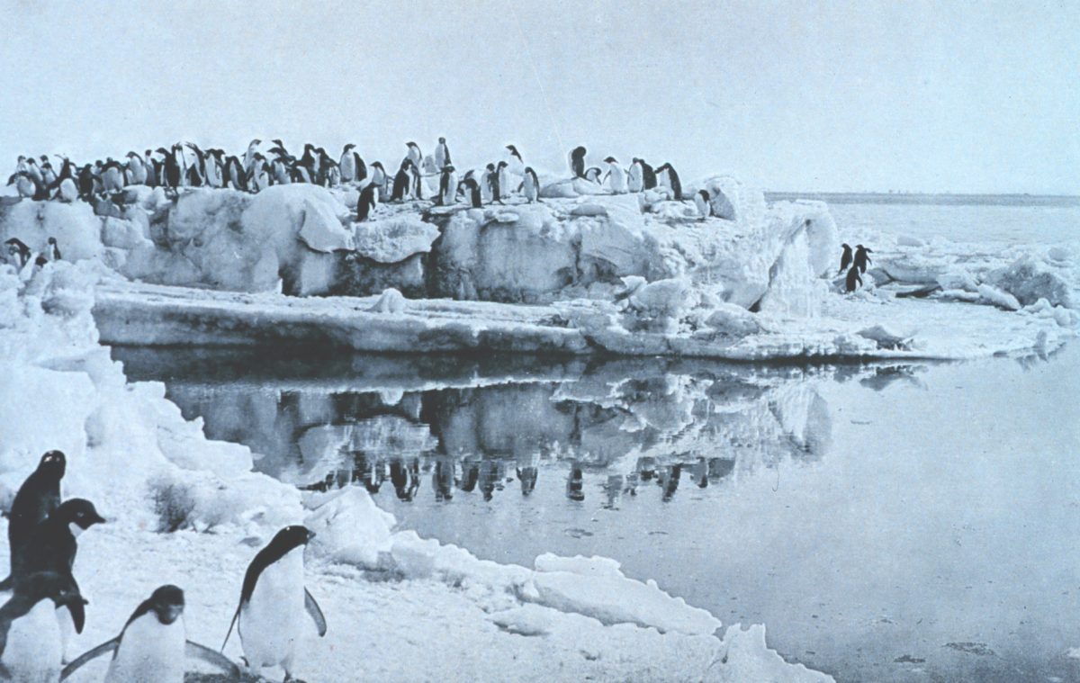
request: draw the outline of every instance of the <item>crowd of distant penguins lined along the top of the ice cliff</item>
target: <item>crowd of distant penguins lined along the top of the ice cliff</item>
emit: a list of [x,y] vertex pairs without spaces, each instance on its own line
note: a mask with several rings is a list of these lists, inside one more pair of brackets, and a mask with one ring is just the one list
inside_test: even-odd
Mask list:
[[[119,204],[129,186],[161,187],[178,195],[186,187],[231,188],[258,192],[274,185],[310,183],[324,187],[353,186],[361,190],[357,220],[366,220],[378,201],[404,202],[423,200],[424,177],[438,178],[438,191],[429,197],[436,206],[464,202],[473,207],[486,203],[502,204],[518,195],[527,202],[540,201],[540,180],[536,171],[526,166],[514,145],[507,145],[504,159],[483,169],[465,172],[459,179],[446,138],[440,137],[435,151],[423,156],[415,142],[405,144],[406,153],[397,171],[391,175],[379,161],[365,163],[353,144],[346,145],[338,159],[311,143],[296,157],[281,139],[264,144],[253,139],[243,156],[228,155],[224,149],[202,149],[193,143],[176,143],[171,147],[147,149],[144,153],[129,151],[124,161],[112,157],[79,165],[67,157],[54,155],[58,171],[46,155],[19,157],[8,185],[18,196],[37,201],[58,200]],[[644,159],[634,158],[629,169],[615,157],[604,160],[605,170],[588,166],[584,147],[569,155],[573,179],[605,186],[617,195],[654,190],[675,201],[692,200],[701,218],[713,215],[707,190],[684,197],[678,173],[670,163],[656,169]],[[368,189],[372,188],[372,189]],[[365,190],[366,193],[365,193]],[[477,199],[478,197],[478,199]]]

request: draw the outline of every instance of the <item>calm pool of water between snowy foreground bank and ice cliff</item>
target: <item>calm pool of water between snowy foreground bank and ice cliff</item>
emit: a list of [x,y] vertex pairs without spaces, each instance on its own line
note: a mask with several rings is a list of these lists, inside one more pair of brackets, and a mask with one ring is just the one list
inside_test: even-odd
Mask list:
[[839,681],[1080,678],[1080,348],[748,366],[114,349],[299,486],[600,554]]

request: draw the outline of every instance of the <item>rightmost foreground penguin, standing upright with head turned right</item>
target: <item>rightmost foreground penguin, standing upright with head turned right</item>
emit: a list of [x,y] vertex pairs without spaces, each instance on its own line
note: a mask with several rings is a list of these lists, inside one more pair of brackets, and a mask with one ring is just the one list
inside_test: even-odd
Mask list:
[[326,635],[326,618],[303,587],[303,549],[314,535],[305,526],[286,526],[247,565],[240,604],[221,649],[233,625],[238,626],[247,666],[256,673],[280,666],[285,680],[292,680],[303,612],[315,622],[319,635]]

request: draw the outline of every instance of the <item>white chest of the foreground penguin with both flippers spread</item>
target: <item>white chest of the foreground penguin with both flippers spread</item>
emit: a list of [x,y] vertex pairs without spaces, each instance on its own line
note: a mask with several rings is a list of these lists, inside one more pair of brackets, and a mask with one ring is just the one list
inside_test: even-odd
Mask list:
[[105,683],[184,683],[184,618],[165,625],[153,613],[127,625]]

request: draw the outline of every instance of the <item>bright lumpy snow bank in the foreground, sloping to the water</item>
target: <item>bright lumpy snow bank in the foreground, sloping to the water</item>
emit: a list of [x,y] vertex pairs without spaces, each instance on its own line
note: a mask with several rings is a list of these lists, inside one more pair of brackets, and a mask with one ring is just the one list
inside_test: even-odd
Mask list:
[[[503,565],[395,531],[359,488],[301,500],[252,472],[247,447],[206,440],[162,385],[127,384],[97,345],[99,277],[89,263],[46,266],[27,284],[0,271],[3,497],[59,447],[65,496],[89,497],[110,519],[80,538],[75,572],[91,604],[69,655],[114,635],[165,582],[186,589],[189,638],[216,646],[247,562],[281,525],[302,521],[319,534],[307,584],[329,625],[325,639],[312,629],[301,644],[296,673],[307,680],[831,680],[783,661],[761,627],[721,638],[708,613],[622,576],[612,560]],[[309,448],[394,429],[365,427],[320,434]],[[226,653],[239,657],[239,639]],[[105,667],[75,680],[100,680]]]

